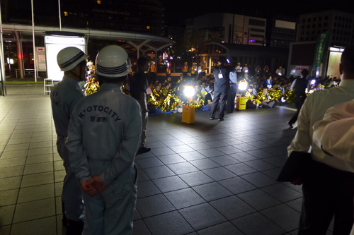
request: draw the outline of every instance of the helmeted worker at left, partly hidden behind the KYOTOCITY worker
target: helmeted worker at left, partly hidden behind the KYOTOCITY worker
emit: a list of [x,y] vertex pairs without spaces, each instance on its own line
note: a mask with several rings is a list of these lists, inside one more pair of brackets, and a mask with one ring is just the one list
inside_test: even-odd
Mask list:
[[70,114],[84,97],[80,81],[86,78],[86,54],[76,47],[67,47],[57,54],[57,63],[64,71],[62,81],[50,93],[52,114],[57,132],[57,151],[64,161],[66,175],[62,189],[63,224],[67,234],[81,234],[84,227],[84,203],[79,183],[69,166],[69,152],[65,147]]

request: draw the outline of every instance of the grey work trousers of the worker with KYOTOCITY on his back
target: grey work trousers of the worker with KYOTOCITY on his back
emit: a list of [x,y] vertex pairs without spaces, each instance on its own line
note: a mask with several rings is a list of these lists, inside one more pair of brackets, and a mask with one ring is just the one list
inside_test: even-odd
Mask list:
[[[110,162],[89,162],[92,176],[100,175]],[[86,221],[83,235],[132,234],[135,203],[137,201],[137,168],[135,165],[90,197],[83,193]]]

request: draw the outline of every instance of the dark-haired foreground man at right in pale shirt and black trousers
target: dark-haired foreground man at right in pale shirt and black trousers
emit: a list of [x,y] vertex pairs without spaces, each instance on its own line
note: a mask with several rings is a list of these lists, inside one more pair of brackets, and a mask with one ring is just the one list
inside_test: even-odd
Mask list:
[[308,152],[312,164],[301,179],[302,211],[299,234],[326,234],[334,216],[333,235],[350,234],[353,224],[354,164],[326,155],[314,143],[314,123],[322,120],[327,109],[354,99],[354,47],[344,49],[339,66],[341,83],[336,88],[316,90],[309,95],[299,112],[297,133],[287,147],[292,151]]

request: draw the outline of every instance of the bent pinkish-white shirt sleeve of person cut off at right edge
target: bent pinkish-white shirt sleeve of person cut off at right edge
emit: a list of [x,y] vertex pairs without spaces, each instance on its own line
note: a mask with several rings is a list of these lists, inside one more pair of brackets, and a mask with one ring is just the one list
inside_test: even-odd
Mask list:
[[354,100],[331,107],[314,123],[314,143],[329,155],[353,162]]

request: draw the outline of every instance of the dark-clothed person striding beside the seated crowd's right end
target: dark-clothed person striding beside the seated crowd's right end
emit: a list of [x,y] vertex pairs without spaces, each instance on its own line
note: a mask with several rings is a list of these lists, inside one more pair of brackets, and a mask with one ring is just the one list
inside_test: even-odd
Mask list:
[[309,81],[307,80],[307,75],[309,75],[309,71],[304,69],[301,71],[301,77],[294,80],[292,83],[292,89],[294,89],[294,102],[297,109],[297,112],[292,116],[290,121],[287,124],[292,128],[292,125],[297,121],[297,116],[299,115],[302,104],[306,99],[306,88],[309,85]]

